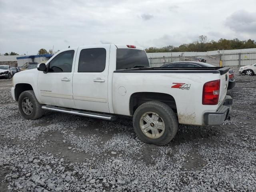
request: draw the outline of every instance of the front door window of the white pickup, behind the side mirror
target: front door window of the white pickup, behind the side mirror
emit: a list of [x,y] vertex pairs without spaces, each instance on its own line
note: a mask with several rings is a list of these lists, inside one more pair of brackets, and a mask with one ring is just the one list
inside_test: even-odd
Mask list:
[[71,72],[74,50],[58,54],[49,64],[48,72]]

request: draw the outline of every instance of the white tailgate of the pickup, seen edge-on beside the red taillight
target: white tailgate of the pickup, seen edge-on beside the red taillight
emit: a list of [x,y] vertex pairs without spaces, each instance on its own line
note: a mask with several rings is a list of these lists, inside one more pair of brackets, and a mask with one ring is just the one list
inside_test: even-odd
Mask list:
[[219,96],[219,105],[222,104],[222,101],[225,99],[228,90],[228,79],[229,79],[229,67],[223,67],[218,69],[220,71],[220,96]]

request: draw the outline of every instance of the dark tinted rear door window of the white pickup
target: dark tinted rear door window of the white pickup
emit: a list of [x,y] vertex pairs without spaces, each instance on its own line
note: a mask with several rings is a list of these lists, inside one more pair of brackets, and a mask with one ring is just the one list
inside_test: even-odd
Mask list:
[[106,66],[106,49],[83,49],[80,52],[78,72],[103,72]]

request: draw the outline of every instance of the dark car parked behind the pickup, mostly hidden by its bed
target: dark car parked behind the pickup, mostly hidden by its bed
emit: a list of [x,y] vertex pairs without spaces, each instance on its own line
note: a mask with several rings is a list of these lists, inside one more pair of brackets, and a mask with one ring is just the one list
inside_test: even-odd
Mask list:
[[[212,64],[204,63],[204,62],[194,62],[194,61],[182,61],[182,62],[172,62],[168,64],[164,64],[161,67],[168,67],[168,68],[200,68],[200,67],[216,67]],[[234,76],[234,71],[230,69],[228,71],[229,73],[229,80],[228,80],[228,89],[234,88],[236,85],[236,79]]]

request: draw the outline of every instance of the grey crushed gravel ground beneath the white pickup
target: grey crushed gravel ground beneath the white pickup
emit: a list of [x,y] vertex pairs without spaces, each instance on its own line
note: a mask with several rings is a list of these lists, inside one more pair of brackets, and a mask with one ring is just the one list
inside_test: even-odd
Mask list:
[[166,146],[141,142],[130,118],[25,120],[0,80],[0,191],[256,191],[256,76],[236,80],[231,120],[180,125]]

